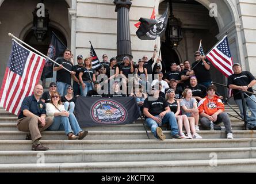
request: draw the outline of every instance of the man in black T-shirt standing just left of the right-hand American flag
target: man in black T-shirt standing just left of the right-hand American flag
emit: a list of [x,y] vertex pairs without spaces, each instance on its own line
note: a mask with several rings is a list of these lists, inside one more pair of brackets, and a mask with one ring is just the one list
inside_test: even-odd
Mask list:
[[197,81],[200,85],[208,87],[212,83],[212,78],[210,74],[210,62],[205,59],[205,56],[201,55],[200,51],[194,53],[194,59],[196,62],[192,64],[194,75],[196,75]]

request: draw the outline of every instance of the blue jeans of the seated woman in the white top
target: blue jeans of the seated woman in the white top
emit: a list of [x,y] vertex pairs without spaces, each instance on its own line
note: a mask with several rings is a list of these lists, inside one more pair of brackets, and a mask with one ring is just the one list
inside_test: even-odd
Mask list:
[[54,122],[48,128],[49,131],[65,131],[65,134],[74,131],[74,135],[77,135],[79,132],[82,132],[82,129],[79,127],[77,118],[73,113],[70,113],[69,117],[66,116],[56,116],[54,117]]

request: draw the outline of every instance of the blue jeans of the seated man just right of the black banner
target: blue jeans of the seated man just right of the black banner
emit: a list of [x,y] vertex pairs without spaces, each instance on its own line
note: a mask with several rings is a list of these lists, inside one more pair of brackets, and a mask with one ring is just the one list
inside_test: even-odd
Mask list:
[[[159,116],[155,116],[155,117],[159,117]],[[151,128],[151,132],[153,133],[153,135],[157,137],[156,135],[156,128],[158,127],[158,123],[153,120],[152,118],[147,118],[146,119],[147,125],[148,127]],[[177,125],[177,121],[175,118],[175,114],[173,112],[168,112],[165,114],[165,116],[162,119],[162,124],[166,124],[167,122],[169,122],[170,124],[170,128],[171,128],[171,136],[178,134],[178,125]]]

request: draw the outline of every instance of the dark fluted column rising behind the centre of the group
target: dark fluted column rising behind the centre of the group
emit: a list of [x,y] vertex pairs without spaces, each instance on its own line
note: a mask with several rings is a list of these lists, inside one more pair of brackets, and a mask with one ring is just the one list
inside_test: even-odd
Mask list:
[[117,12],[117,61],[123,60],[124,56],[131,59],[132,45],[129,25],[129,9],[132,5],[130,0],[115,0]]

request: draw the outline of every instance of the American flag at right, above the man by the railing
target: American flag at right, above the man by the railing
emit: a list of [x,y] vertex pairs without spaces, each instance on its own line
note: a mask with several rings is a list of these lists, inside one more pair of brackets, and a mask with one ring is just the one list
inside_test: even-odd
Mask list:
[[232,57],[230,47],[228,46],[227,35],[213,47],[213,49],[206,55],[207,59],[211,61],[221,73],[226,77],[234,74],[232,70]]

